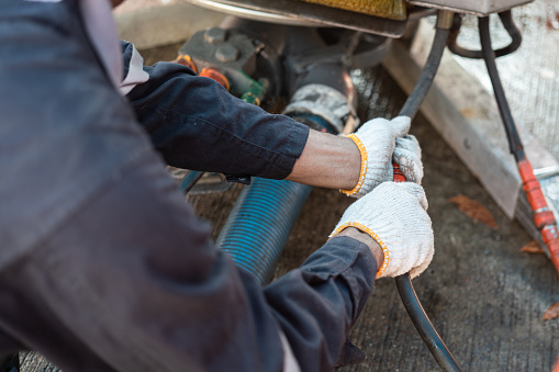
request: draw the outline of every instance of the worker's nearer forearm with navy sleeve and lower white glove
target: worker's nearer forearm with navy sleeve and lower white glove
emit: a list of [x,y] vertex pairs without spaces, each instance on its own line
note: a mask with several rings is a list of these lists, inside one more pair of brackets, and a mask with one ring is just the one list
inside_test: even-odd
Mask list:
[[[333,237],[301,269],[266,289],[302,371],[314,371],[317,361],[323,363],[318,370],[332,368],[334,350],[339,352],[340,341],[365,305],[370,275],[396,277],[410,271],[415,277],[427,268],[434,243],[426,208],[422,187],[382,183],[348,207]],[[364,245],[354,246],[356,240]],[[348,247],[354,248],[348,251]],[[370,268],[373,271],[367,271]]]

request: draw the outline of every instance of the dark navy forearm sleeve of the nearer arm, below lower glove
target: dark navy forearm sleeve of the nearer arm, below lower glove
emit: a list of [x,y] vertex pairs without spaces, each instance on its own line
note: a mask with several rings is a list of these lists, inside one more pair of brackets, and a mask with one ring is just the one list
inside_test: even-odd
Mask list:
[[265,289],[301,371],[336,365],[372,290],[376,270],[366,245],[338,237]]

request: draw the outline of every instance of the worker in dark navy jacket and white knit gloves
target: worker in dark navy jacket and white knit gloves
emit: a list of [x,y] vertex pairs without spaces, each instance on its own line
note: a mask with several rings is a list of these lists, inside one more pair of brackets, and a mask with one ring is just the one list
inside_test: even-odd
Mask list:
[[[333,136],[187,69],[157,84],[122,70],[109,1],[0,0],[0,352],[81,372],[329,371],[374,279],[433,257],[410,120]],[[158,92],[167,108],[150,105]],[[161,156],[358,199],[260,288],[215,249]],[[392,158],[415,182],[390,182]]]

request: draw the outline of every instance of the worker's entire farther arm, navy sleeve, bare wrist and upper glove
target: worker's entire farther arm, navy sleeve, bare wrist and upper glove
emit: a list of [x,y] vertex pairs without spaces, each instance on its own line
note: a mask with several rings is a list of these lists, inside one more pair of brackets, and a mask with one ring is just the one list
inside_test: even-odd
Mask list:
[[406,177],[421,181],[421,177],[413,176],[422,171],[418,145],[400,145],[400,140],[410,143],[404,137],[409,119],[369,121],[356,134],[365,146],[360,150],[350,138],[312,131],[286,115],[269,114],[245,103],[186,66],[158,63],[144,67],[132,44],[123,46],[122,90],[155,147],[171,166],[287,178],[343,190],[354,189],[362,179],[360,196],[392,179],[393,154],[401,154],[414,165],[410,172],[403,169]]

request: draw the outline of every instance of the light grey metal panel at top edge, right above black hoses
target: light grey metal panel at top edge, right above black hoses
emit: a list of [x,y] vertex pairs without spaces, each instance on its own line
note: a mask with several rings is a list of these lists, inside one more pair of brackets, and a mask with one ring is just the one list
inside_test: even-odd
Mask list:
[[451,10],[458,13],[488,15],[522,5],[534,0],[409,0],[411,4]]

